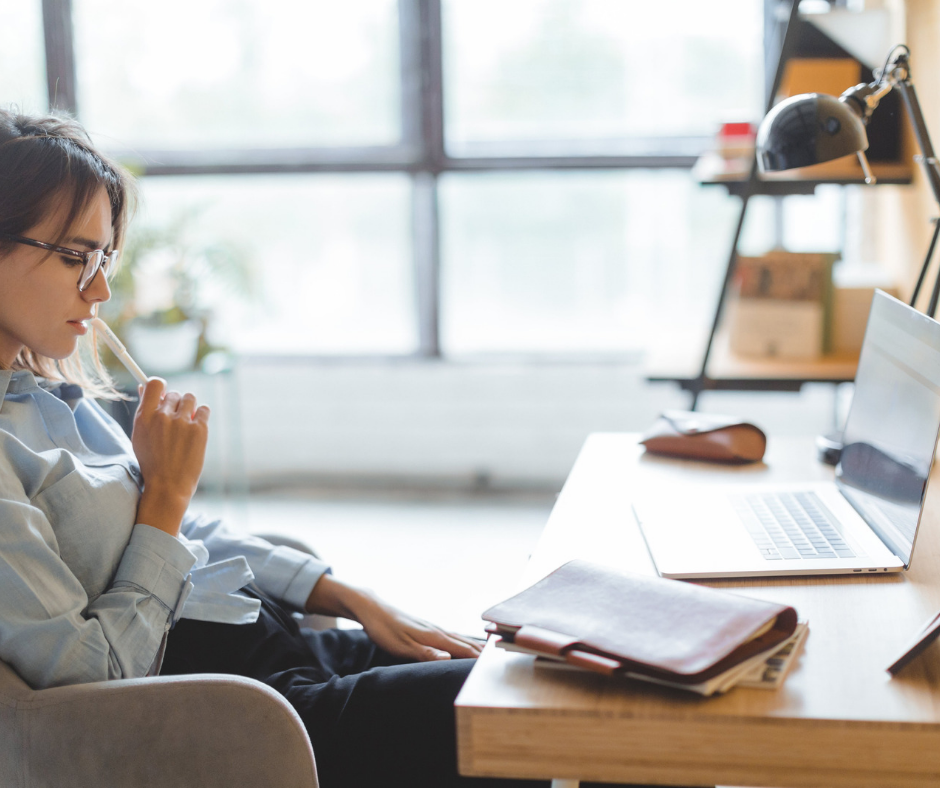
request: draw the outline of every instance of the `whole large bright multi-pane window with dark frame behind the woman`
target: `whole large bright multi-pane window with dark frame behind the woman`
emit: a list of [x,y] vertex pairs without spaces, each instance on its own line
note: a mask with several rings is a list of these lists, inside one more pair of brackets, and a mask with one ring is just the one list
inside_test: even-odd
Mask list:
[[72,13],[55,103],[141,173],[141,226],[189,212],[254,260],[252,302],[207,294],[219,342],[621,356],[707,327],[736,198],[689,170],[762,112],[755,0],[44,6]]

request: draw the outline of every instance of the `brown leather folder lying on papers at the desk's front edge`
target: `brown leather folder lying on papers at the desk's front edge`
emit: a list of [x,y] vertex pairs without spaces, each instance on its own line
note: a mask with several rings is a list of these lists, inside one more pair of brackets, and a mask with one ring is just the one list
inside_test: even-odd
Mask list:
[[565,564],[483,618],[522,648],[679,684],[707,681],[773,648],[797,623],[786,605],[587,561]]

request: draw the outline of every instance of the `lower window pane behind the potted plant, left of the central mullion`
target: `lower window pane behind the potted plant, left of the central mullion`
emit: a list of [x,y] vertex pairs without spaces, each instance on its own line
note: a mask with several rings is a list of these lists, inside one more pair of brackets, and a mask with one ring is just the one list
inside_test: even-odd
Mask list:
[[224,239],[254,262],[249,300],[219,276],[201,304],[213,340],[259,355],[416,351],[406,177],[148,178],[142,197],[143,227],[182,220],[191,248]]

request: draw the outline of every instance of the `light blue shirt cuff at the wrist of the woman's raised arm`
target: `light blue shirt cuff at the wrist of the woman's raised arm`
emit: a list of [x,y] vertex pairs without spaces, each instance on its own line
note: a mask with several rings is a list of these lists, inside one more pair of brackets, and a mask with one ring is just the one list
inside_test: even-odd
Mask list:
[[188,575],[195,563],[195,556],[175,536],[138,523],[124,548],[113,585],[142,588],[175,613],[192,588]]

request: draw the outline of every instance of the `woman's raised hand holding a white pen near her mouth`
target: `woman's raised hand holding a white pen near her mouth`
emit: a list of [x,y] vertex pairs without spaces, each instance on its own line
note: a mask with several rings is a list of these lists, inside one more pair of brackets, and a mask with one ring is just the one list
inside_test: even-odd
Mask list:
[[160,378],[147,381],[131,436],[144,477],[138,522],[179,534],[202,473],[208,437],[205,405],[196,407],[192,394],[167,391]]

